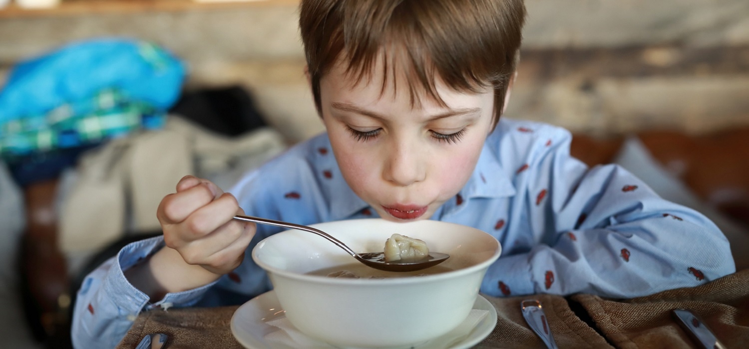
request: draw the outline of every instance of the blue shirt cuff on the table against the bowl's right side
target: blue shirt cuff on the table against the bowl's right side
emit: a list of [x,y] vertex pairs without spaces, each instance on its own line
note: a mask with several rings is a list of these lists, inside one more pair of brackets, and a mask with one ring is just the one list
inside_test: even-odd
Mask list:
[[492,264],[481,285],[482,293],[494,297],[534,294],[530,253],[500,257]]

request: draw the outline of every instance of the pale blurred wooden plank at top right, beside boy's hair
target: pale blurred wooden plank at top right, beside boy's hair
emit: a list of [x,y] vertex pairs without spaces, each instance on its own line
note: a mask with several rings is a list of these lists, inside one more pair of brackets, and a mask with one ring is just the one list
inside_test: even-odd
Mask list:
[[749,44],[747,0],[527,0],[527,48]]

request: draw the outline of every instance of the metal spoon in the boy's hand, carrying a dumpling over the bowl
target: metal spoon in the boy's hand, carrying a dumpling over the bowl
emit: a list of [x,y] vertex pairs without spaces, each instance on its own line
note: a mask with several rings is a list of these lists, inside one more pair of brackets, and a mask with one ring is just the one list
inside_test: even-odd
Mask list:
[[[280,220],[269,220],[269,219],[260,218],[260,217],[242,216],[239,214],[234,216],[234,219],[243,220],[246,222],[269,224],[271,226],[281,226],[283,228],[299,229],[299,230],[304,230],[305,232],[315,233],[317,235],[322,236],[323,238],[327,238],[328,240],[333,242],[333,244],[338,245],[338,247],[341,247],[343,250],[348,252],[348,254],[350,254],[351,256],[354,256],[354,258],[357,259],[359,262],[362,262],[369,267],[380,269],[380,271],[419,271],[425,268],[432,267],[434,265],[438,265],[442,262],[445,262],[445,260],[449,258],[449,255],[446,253],[430,252],[429,256],[423,259],[419,259],[417,261],[386,262],[385,253],[383,252],[356,253],[354,252],[354,250],[351,250],[351,247],[346,246],[337,238],[333,238],[333,236],[328,235],[326,232],[312,228],[311,226],[303,226],[300,224],[282,222]],[[384,241],[383,241],[383,246],[384,246]]]

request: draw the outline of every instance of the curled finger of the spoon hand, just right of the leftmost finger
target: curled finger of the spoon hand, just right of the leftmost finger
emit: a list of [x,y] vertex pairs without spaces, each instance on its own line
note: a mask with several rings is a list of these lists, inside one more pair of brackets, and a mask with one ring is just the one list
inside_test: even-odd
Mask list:
[[230,222],[238,208],[239,204],[234,195],[222,194],[221,197],[196,210],[185,219],[184,224],[187,226],[188,235],[184,238],[194,240],[210,234]]

